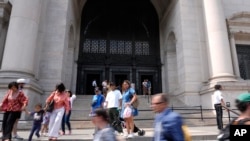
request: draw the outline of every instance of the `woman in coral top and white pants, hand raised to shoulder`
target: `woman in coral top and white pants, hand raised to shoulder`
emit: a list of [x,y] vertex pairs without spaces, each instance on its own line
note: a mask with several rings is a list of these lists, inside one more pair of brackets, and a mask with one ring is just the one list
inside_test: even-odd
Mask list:
[[49,140],[57,140],[63,114],[65,112],[68,115],[70,110],[68,95],[63,83],[56,85],[56,90],[47,98],[46,104],[48,105],[52,100],[54,100],[54,110],[50,115],[48,136]]

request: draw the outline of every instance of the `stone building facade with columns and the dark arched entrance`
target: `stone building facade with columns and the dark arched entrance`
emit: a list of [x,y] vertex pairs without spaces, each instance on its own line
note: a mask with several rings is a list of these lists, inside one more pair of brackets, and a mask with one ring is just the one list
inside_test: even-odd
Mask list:
[[215,84],[230,102],[249,91],[249,0],[121,3],[0,0],[1,96],[17,78],[31,101],[58,82],[90,93],[93,79],[129,79],[140,93],[148,78],[154,93],[209,108]]

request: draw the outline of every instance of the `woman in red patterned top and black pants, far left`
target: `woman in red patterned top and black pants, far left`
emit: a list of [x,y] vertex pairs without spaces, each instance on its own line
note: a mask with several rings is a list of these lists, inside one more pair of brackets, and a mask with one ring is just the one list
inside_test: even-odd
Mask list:
[[22,91],[18,90],[18,84],[16,82],[11,82],[8,87],[9,91],[0,104],[1,110],[5,111],[2,122],[3,141],[11,140],[13,125],[20,111],[23,111],[28,104],[28,98]]

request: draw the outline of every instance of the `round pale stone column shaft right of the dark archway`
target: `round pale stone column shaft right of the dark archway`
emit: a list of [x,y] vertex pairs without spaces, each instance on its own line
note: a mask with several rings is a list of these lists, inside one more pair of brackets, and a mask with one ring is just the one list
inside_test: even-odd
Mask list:
[[211,81],[235,81],[221,0],[203,0]]

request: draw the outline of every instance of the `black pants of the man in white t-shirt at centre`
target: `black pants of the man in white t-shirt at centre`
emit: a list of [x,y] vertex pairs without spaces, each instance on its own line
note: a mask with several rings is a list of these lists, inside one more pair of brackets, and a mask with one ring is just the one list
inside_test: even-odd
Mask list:
[[109,118],[110,118],[110,124],[112,127],[118,131],[119,133],[122,133],[122,126],[121,121],[119,120],[119,111],[117,108],[109,108],[108,109]]

